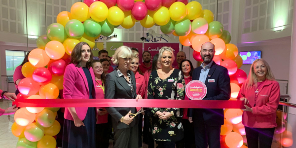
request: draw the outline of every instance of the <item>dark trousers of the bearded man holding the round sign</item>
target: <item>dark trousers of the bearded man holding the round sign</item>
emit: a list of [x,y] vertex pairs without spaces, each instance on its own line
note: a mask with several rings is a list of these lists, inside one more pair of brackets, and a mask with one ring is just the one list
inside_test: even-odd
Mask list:
[[202,112],[194,112],[192,117],[196,148],[220,148],[220,126],[209,126],[205,123]]

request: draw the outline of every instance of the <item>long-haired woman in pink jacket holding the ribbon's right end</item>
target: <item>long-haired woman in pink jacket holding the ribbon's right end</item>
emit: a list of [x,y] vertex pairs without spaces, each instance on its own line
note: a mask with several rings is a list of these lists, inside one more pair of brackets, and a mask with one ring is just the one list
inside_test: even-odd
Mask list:
[[248,148],[271,148],[277,126],[276,110],[280,101],[280,85],[268,63],[256,59],[243,83],[237,100],[245,101],[242,122],[245,125]]

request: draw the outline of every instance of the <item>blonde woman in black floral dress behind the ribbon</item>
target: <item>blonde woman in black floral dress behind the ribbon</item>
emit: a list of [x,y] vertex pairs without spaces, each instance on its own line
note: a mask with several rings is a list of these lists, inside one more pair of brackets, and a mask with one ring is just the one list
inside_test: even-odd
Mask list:
[[[148,99],[183,100],[185,97],[184,75],[172,67],[175,60],[171,47],[159,50],[158,60],[162,68],[150,74],[148,82]],[[183,110],[179,108],[150,108],[150,132],[157,148],[175,148],[175,143],[183,139],[181,118]]]

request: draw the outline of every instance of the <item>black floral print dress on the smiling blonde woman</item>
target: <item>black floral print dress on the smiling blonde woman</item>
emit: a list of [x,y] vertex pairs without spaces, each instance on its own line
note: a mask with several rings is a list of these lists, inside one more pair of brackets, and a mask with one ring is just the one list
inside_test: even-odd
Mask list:
[[[157,71],[150,74],[148,82],[148,99],[184,100],[185,80],[180,70],[174,69],[166,79],[159,78]],[[177,142],[183,139],[183,125],[181,118],[183,110],[179,108],[150,108],[150,132],[156,141]],[[157,111],[170,112],[168,119],[160,119]]]

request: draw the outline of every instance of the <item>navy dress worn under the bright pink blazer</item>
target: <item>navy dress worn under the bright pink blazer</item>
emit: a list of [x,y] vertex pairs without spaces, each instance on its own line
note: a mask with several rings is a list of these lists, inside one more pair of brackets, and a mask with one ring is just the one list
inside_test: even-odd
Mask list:
[[[82,68],[87,78],[89,88],[89,99],[93,99],[92,90],[94,87],[91,74],[87,68]],[[83,123],[85,126],[76,127],[74,121],[65,119],[63,148],[95,148],[96,136],[96,108],[88,108]]]

